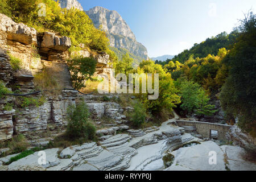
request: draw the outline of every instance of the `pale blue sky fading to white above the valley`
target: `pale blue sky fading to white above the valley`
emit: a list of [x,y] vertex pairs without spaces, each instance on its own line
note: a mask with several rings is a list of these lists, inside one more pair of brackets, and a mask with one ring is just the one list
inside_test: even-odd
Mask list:
[[237,26],[255,0],[79,0],[85,10],[102,6],[129,24],[148,56],[176,55]]

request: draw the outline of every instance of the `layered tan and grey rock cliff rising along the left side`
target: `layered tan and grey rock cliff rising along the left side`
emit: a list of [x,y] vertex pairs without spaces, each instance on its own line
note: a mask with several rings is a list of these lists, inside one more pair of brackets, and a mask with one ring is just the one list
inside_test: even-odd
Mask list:
[[[71,57],[68,51],[71,40],[66,36],[57,36],[52,32],[37,32],[22,23],[15,23],[6,15],[0,14],[0,81],[12,91],[27,94],[37,90],[34,76],[47,68],[59,83],[60,91],[72,88],[71,74],[66,60]],[[18,58],[20,68],[14,70],[10,56]],[[85,49],[81,55],[89,57]],[[105,73],[109,68],[109,55],[102,52],[93,55],[97,60],[97,73]],[[15,86],[15,88],[14,88]],[[28,96],[40,98],[41,94]],[[75,90],[62,90],[58,95],[44,96],[40,106],[18,107],[6,111],[6,104],[16,101],[18,97],[7,96],[0,100],[0,142],[10,139],[14,134],[23,134],[29,139],[42,137],[49,127],[59,130],[67,123],[67,107],[76,104],[79,99]],[[16,103],[16,102],[15,102]],[[54,131],[53,131],[54,132]]]

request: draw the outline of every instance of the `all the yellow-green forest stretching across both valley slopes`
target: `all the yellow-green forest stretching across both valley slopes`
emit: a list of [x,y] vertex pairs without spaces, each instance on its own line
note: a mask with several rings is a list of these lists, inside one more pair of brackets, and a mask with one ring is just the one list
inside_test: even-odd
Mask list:
[[[46,16],[38,16],[38,5],[42,2],[47,5]],[[226,121],[234,123],[238,118],[241,129],[255,136],[255,14],[246,15],[240,21],[241,26],[230,34],[223,32],[195,44],[172,60],[144,60],[134,67],[137,57],[125,49],[109,48],[106,33],[95,28],[84,11],[61,9],[52,0],[3,0],[0,3],[0,13],[10,16],[15,22],[25,23],[39,32],[54,31],[69,36],[73,45],[71,51],[80,49],[79,44],[83,43],[92,51],[109,53],[116,73],[127,76],[129,73],[159,73],[158,100],[148,100],[149,93],[137,95],[140,102],[134,106],[137,114],[133,118],[137,124],[145,122],[146,115],[142,114],[145,112],[154,121],[164,121],[175,107],[181,109],[180,114],[196,114],[200,119],[216,112],[209,101],[218,99],[225,110]],[[83,61],[86,59],[76,58],[72,63],[82,64]],[[80,71],[92,75],[91,69],[86,70]]]

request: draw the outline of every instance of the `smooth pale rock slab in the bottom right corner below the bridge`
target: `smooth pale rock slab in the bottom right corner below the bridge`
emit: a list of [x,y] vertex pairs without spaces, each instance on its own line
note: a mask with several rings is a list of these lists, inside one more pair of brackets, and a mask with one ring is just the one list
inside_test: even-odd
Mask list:
[[[210,164],[210,152],[216,152],[216,164]],[[255,171],[255,164],[243,157],[246,152],[237,146],[218,146],[212,141],[171,152],[174,163],[167,171]]]

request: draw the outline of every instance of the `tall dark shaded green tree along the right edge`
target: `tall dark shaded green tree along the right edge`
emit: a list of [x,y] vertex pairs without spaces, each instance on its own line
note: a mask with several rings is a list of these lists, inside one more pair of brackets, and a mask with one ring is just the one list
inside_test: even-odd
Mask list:
[[224,59],[229,76],[221,88],[226,114],[238,117],[242,130],[256,131],[256,15],[248,14],[238,27],[240,36]]

